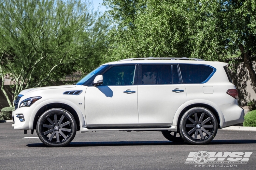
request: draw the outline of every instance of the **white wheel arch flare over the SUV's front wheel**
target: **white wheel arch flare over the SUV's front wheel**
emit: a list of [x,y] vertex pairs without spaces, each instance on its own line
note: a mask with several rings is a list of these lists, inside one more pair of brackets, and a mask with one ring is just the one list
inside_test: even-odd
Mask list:
[[40,108],[42,108],[43,106],[47,105],[47,104],[51,104],[51,103],[63,103],[63,104],[67,104],[70,107],[72,107],[75,112],[77,113],[77,116],[79,117],[79,122],[80,122],[80,127],[85,127],[85,115],[81,112],[80,108],[77,107],[74,103],[65,100],[65,99],[49,99],[49,100],[45,100],[41,103],[39,103],[33,110],[30,120],[29,120],[29,129],[33,129],[33,122],[34,122],[34,118],[35,115],[37,114],[37,112],[39,111]]

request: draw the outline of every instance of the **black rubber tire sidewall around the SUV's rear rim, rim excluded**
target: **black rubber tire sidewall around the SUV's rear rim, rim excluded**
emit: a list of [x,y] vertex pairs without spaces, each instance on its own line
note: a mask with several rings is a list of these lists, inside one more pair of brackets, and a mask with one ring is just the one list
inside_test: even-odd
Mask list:
[[[207,115],[211,118],[214,127],[213,127],[213,131],[212,131],[212,135],[208,139],[202,140],[202,141],[197,141],[197,140],[193,140],[190,137],[188,137],[188,134],[186,132],[186,120],[187,120],[187,117],[191,113],[200,112],[200,111],[207,113]],[[181,121],[180,121],[180,135],[185,142],[190,143],[190,144],[200,145],[200,144],[209,143],[216,136],[217,130],[218,130],[218,123],[217,123],[216,117],[214,116],[214,114],[211,111],[209,111],[207,108],[204,108],[204,107],[193,107],[193,108],[189,109],[182,116]]]

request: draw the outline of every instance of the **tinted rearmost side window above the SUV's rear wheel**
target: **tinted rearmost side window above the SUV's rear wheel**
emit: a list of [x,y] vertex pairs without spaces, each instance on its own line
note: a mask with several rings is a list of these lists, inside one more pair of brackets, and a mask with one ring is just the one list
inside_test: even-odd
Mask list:
[[213,68],[197,64],[180,64],[181,77],[184,84],[202,83],[213,72]]

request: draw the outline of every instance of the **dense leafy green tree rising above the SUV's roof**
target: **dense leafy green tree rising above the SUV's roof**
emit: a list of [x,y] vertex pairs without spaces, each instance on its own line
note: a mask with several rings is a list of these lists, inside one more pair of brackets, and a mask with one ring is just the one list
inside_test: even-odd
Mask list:
[[255,0],[104,0],[112,21],[109,60],[241,54],[256,87]]

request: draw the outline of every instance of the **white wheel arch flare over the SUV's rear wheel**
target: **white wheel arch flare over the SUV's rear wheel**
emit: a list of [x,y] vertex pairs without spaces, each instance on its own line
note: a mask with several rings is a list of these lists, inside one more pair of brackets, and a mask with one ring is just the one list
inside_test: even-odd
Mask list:
[[216,112],[218,113],[221,128],[225,127],[225,119],[224,119],[223,113],[222,113],[221,109],[218,107],[218,105],[214,104],[213,102],[211,102],[209,100],[203,100],[203,99],[190,100],[190,101],[183,103],[175,112],[175,115],[173,117],[173,122],[172,122],[173,126],[177,126],[179,124],[178,119],[179,119],[179,116],[180,116],[181,112],[183,111],[183,109],[192,104],[206,104],[206,105],[213,107],[216,110]]

